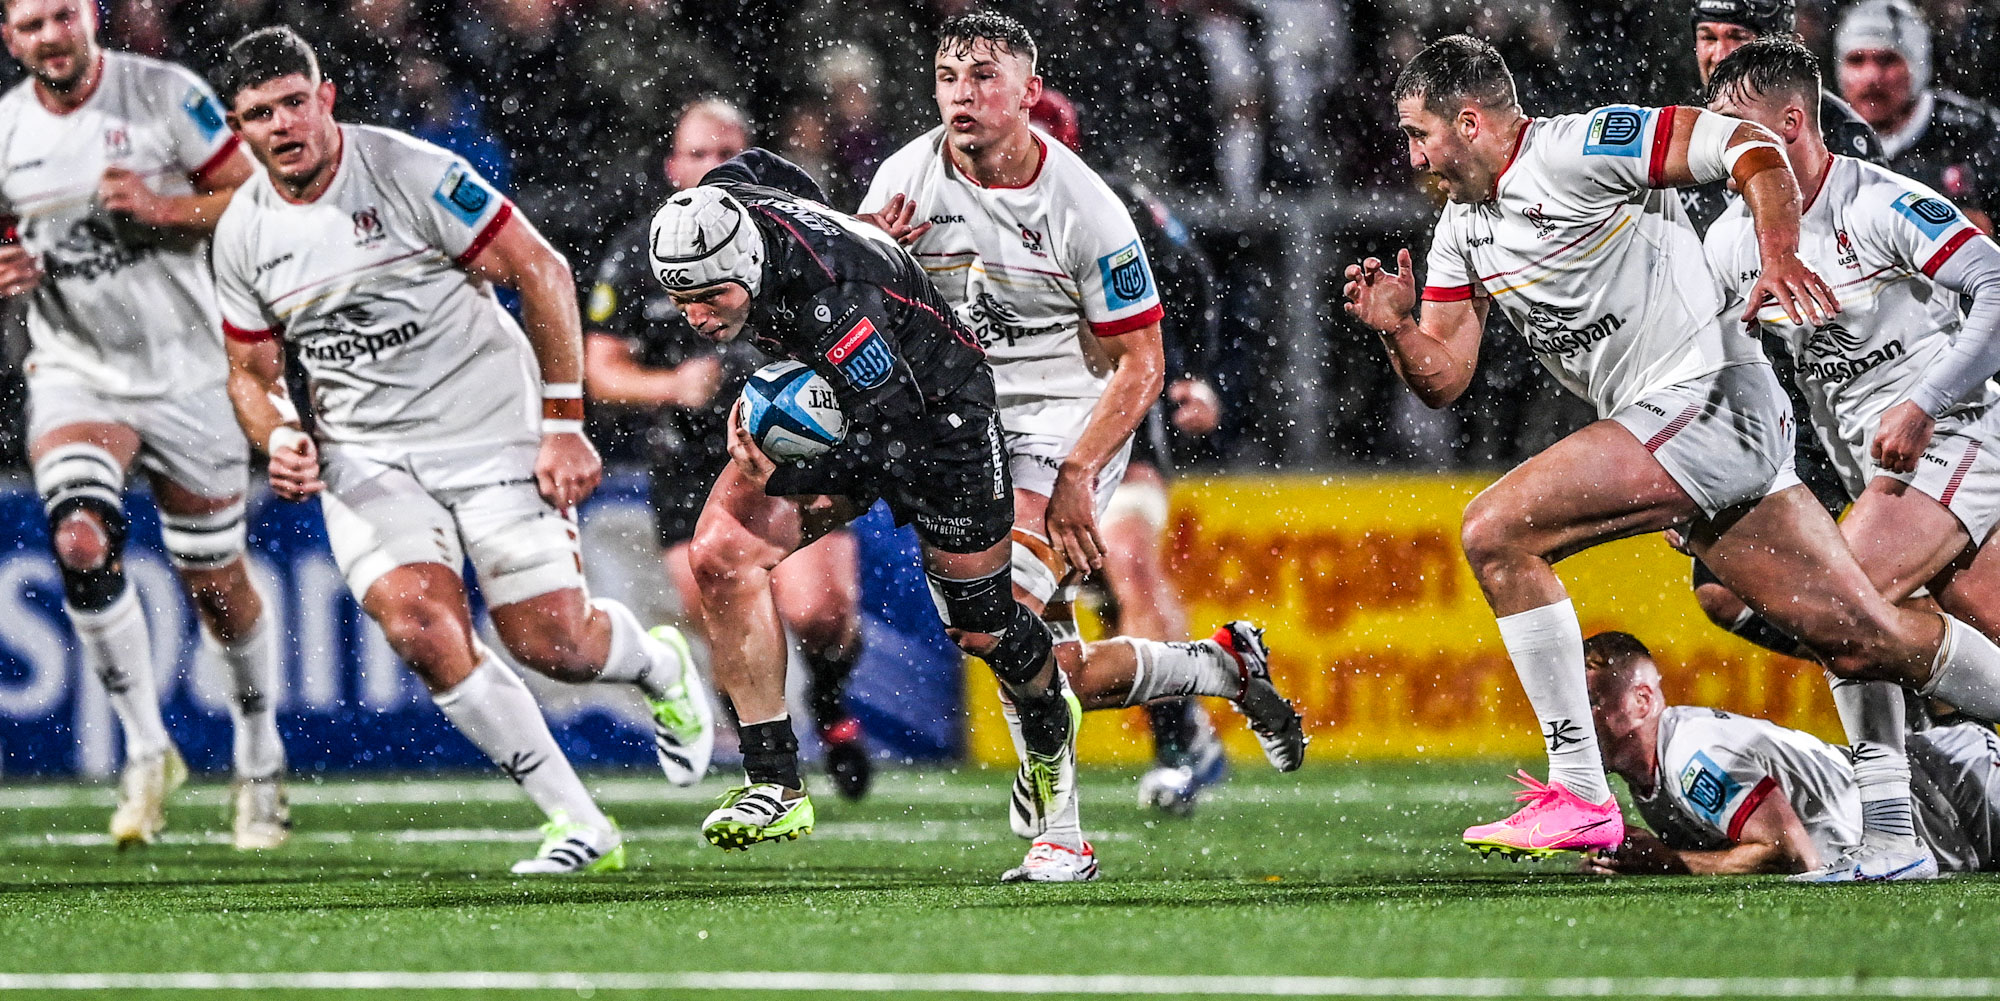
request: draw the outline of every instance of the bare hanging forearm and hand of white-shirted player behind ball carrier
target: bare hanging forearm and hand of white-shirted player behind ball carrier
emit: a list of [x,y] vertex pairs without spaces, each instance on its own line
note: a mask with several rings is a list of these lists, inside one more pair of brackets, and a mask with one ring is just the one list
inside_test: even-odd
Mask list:
[[1124,446],[1126,438],[1146,420],[1146,410],[1160,398],[1166,378],[1166,352],[1160,346],[1160,324],[1100,336],[1098,348],[1112,362],[1104,396],[1090,408],[1076,448],[1062,460],[1056,486],[1048,496],[1048,541],[1062,551],[1070,567],[1104,569],[1104,537],[1098,535],[1096,486],[1098,472]]

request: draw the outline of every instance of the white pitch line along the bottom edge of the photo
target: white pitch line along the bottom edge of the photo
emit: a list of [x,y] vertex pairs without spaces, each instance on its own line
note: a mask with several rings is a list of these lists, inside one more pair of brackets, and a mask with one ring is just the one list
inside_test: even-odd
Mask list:
[[1994,997],[2000,977],[1164,977],[1062,973],[0,973],[0,991],[836,991],[1196,997]]

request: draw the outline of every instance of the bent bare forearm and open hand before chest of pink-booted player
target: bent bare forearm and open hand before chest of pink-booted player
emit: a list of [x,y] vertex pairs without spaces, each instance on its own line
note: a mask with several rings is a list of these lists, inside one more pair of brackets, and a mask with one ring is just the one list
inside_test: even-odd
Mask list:
[[1488,300],[1424,302],[1418,318],[1410,250],[1396,252],[1396,268],[1384,270],[1380,258],[1348,264],[1342,290],[1348,316],[1382,334],[1396,376],[1424,406],[1450,406],[1472,384]]

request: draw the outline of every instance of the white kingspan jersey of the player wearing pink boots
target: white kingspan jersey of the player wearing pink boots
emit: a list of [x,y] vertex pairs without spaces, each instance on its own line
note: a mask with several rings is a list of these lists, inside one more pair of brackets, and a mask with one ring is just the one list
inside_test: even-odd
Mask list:
[[1760,360],[1754,340],[1722,336],[1702,240],[1660,190],[1670,138],[1672,108],[1528,120],[1494,194],[1444,206],[1424,300],[1492,298],[1598,416]]

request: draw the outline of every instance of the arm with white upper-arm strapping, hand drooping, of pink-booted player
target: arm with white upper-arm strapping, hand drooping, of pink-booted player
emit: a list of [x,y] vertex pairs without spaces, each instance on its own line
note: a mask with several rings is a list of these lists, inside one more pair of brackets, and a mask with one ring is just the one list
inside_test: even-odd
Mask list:
[[1840,312],[1840,300],[1804,260],[1798,260],[1798,216],[1806,200],[1784,160],[1784,144],[1768,128],[1704,108],[1674,108],[1672,138],[1650,184],[1686,188],[1728,178],[1756,224],[1762,274],[1750,286],[1742,320],[1756,320],[1776,302],[1792,322],[1820,326]]

